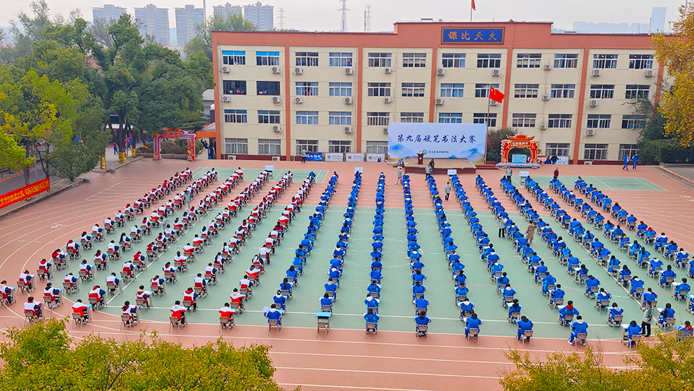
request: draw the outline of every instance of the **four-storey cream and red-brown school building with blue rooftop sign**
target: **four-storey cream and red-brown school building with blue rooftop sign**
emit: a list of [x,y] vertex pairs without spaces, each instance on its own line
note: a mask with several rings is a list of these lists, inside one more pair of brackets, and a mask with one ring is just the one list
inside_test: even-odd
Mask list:
[[[385,153],[389,122],[487,123],[571,163],[619,161],[658,99],[647,34],[550,22],[399,22],[393,33],[212,33],[217,157]],[[491,104],[489,86],[505,94]],[[491,102],[495,103],[495,102]]]

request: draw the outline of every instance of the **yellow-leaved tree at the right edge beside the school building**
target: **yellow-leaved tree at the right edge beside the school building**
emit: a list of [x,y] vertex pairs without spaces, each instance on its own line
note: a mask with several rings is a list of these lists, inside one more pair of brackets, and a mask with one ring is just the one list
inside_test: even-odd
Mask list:
[[694,145],[694,5],[679,7],[672,35],[654,35],[653,47],[661,67],[674,79],[663,92],[659,110],[666,118],[666,135],[685,147]]

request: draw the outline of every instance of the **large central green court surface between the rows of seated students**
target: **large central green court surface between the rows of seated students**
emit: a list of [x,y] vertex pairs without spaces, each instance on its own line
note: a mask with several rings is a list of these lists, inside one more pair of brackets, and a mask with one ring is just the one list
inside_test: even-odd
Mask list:
[[[203,171],[203,170],[201,170]],[[255,178],[260,170],[248,169],[244,173],[244,178]],[[301,180],[308,174],[308,170],[294,171],[295,180]],[[219,169],[219,178],[223,178],[231,174],[230,169]],[[312,189],[313,192],[322,192],[323,184],[320,183],[327,171],[319,172],[321,176],[318,182]],[[274,178],[279,178],[282,174],[278,171]],[[341,199],[347,197],[349,190],[349,182],[341,183],[337,187],[335,197]],[[397,190],[390,190],[386,197],[402,197]],[[263,190],[266,190],[264,188]],[[258,194],[262,196],[263,190]],[[477,197],[474,191],[471,192],[471,197]],[[233,194],[233,193],[232,193]],[[257,253],[264,243],[267,233],[271,229],[271,225],[280,216],[283,206],[292,194],[283,194],[280,201],[271,208],[267,215],[267,221],[260,224],[257,231],[253,232],[240,253],[236,255],[232,263],[226,265],[224,274],[217,274],[217,285],[208,287],[208,297],[198,298],[198,310],[196,313],[189,314],[188,321],[191,324],[217,324],[219,322],[218,310],[223,306],[223,303],[228,302],[229,295],[233,288],[238,288],[239,280],[244,276],[244,272],[251,265],[251,259]],[[373,194],[364,191],[362,188],[361,197],[372,197]],[[228,199],[229,197],[227,197]],[[120,315],[120,306],[124,301],[129,300],[131,303],[135,301],[135,292],[139,285],[145,285],[149,288],[149,281],[156,274],[163,276],[162,267],[167,261],[172,261],[176,255],[176,251],[182,251],[183,244],[192,241],[192,238],[201,229],[201,224],[207,224],[210,219],[214,219],[226,205],[226,202],[214,208],[208,215],[203,217],[200,222],[192,226],[182,238],[180,238],[169,251],[161,253],[158,260],[151,262],[144,272],[137,273],[135,281],[128,284],[121,283],[122,292],[115,297],[107,297],[107,306],[102,309],[105,313],[112,315]],[[466,265],[465,274],[468,276],[467,285],[470,289],[469,299],[475,304],[475,311],[484,321],[482,333],[486,335],[505,335],[511,336],[516,334],[516,327],[507,322],[508,311],[502,308],[501,298],[496,293],[496,285],[491,281],[491,276],[486,270],[485,263],[480,260],[480,253],[469,231],[469,227],[462,215],[459,205],[455,200],[446,202],[446,215],[451,224],[453,238],[458,245],[458,253],[462,256],[462,263]],[[262,314],[262,309],[269,306],[273,301],[272,297],[278,290],[278,285],[285,276],[285,270],[291,265],[291,260],[294,258],[294,249],[298,242],[303,238],[305,226],[308,221],[308,216],[312,213],[314,206],[305,205],[301,212],[297,214],[297,218],[290,226],[285,238],[282,239],[280,245],[276,248],[276,255],[271,257],[271,264],[266,267],[266,272],[260,278],[260,285],[253,289],[253,298],[246,303],[246,311],[235,317],[236,324],[242,325],[266,325],[266,319]],[[227,225],[226,230],[221,231],[218,238],[212,240],[210,247],[207,247],[203,253],[196,254],[194,263],[190,263],[188,271],[178,276],[178,282],[175,285],[167,285],[166,294],[163,297],[154,297],[153,308],[140,310],[142,319],[149,321],[168,322],[171,306],[174,301],[183,299],[183,291],[185,288],[193,285],[194,276],[198,272],[203,272],[205,265],[211,263],[217,251],[221,249],[226,238],[232,235],[237,225],[242,219],[248,215],[250,208],[246,207],[239,213],[239,216],[232,218],[232,222]],[[495,244],[497,253],[501,257],[501,263],[505,265],[505,272],[508,273],[511,280],[511,286],[518,292],[516,298],[520,300],[523,306],[522,315],[527,316],[535,324],[535,335],[538,338],[565,338],[568,337],[569,328],[563,328],[557,323],[558,314],[548,307],[548,299],[541,295],[541,287],[534,283],[534,276],[527,272],[527,269],[521,258],[516,255],[514,249],[508,240],[496,238],[496,220],[488,210],[478,210],[480,222],[487,227],[487,231],[492,237],[492,242]],[[340,278],[340,288],[337,292],[337,301],[333,305],[333,314],[330,326],[332,328],[345,328],[361,330],[364,327],[363,315],[365,312],[364,299],[366,298],[366,287],[369,285],[369,272],[371,256],[371,230],[373,228],[373,208],[359,207],[356,208],[356,213],[353,221],[353,228],[350,234],[348,254],[345,258],[343,276]],[[321,231],[317,235],[314,243],[314,249],[311,256],[304,266],[303,276],[298,279],[298,284],[294,287],[293,299],[287,302],[287,314],[282,317],[283,326],[310,327],[316,326],[316,311],[320,309],[319,299],[323,297],[325,289],[323,284],[328,280],[328,265],[332,258],[332,250],[337,241],[337,236],[342,222],[344,207],[333,205],[325,213],[325,219],[321,225]],[[180,216],[180,211],[177,212]],[[425,286],[427,291],[425,297],[430,301],[428,316],[432,318],[430,324],[430,332],[432,333],[464,333],[464,325],[459,318],[459,308],[455,304],[454,282],[452,281],[448,264],[446,261],[439,232],[437,230],[437,222],[432,209],[416,209],[415,210],[418,233],[418,242],[422,246],[423,263],[425,268],[423,273],[427,276]],[[169,217],[169,222],[173,222],[176,215]],[[525,229],[525,222],[517,213],[511,213],[511,218],[518,222],[521,226],[521,231]],[[110,240],[116,240],[121,232],[129,231],[133,222],[126,224],[123,228],[117,228],[115,235],[107,235],[106,240],[101,243],[96,243],[94,249],[83,253],[82,258],[90,261],[96,249],[105,251],[106,243]],[[556,225],[556,224],[552,224]],[[407,242],[405,240],[405,218],[402,208],[387,208],[384,218],[384,248],[382,262],[384,264],[382,280],[381,301],[379,306],[379,330],[380,331],[413,331],[414,330],[414,304],[412,303],[412,278],[410,274],[409,259],[406,257]],[[131,260],[133,253],[137,251],[145,252],[146,243],[151,242],[155,238],[153,235],[145,236],[140,243],[133,244],[133,249],[121,253],[121,260],[109,263],[106,271],[97,271],[94,281],[81,283],[81,291],[68,297],[74,301],[78,298],[87,301],[87,293],[92,285],[99,284],[102,288],[105,287],[105,277],[110,272],[119,274],[122,263],[125,260]],[[493,234],[493,235],[491,235]],[[561,231],[564,234],[564,231]],[[560,234],[560,235],[561,235]],[[568,237],[568,233],[564,235]],[[594,274],[602,284],[613,295],[613,301],[617,301],[622,308],[625,309],[625,322],[636,319],[641,322],[642,313],[640,304],[630,299],[628,294],[620,285],[618,285],[601,267],[595,264],[595,261],[590,258],[589,253],[580,248],[579,245],[571,240],[567,240],[571,249],[574,249],[577,256],[582,259],[589,267],[591,274]],[[615,244],[606,244],[607,248],[614,254],[618,254],[618,258],[623,260],[623,263],[632,265],[632,260],[625,260],[623,254],[620,254]],[[586,322],[590,325],[590,338],[620,338],[620,328],[611,328],[607,326],[607,314],[605,310],[599,313],[595,309],[595,301],[588,299],[584,295],[584,285],[579,286],[573,282],[573,276],[566,273],[566,267],[561,266],[554,258],[541,240],[539,235],[536,235],[535,245],[533,247],[541,258],[548,265],[549,271],[557,278],[557,283],[562,285],[566,290],[566,299],[573,300],[575,307],[583,315]],[[636,267],[634,266],[634,268]],[[69,261],[69,268],[65,272],[60,272],[58,278],[62,278],[67,272],[78,274],[78,262]],[[679,272],[678,272],[679,273]],[[636,269],[634,274],[643,274],[642,278],[646,281],[646,287],[654,289],[661,297],[660,303],[663,305],[671,295],[671,290],[659,288],[656,281],[646,276],[645,271]],[[685,312],[684,303],[672,301],[673,308],[677,312],[677,324],[689,319],[694,321],[694,316]]]

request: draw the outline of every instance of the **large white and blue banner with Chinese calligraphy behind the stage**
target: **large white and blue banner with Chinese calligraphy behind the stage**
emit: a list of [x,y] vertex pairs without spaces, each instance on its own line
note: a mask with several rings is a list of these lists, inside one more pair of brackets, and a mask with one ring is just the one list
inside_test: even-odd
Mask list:
[[485,124],[429,124],[391,122],[388,125],[388,157],[414,158],[426,151],[425,158],[469,159],[484,163]]

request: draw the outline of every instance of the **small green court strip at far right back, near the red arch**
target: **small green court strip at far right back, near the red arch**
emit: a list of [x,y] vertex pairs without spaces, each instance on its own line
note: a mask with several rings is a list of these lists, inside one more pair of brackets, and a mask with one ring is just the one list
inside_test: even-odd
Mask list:
[[[543,188],[548,188],[550,179],[552,179],[552,176],[549,175],[533,175],[532,171],[530,172],[530,177],[534,179],[534,181],[537,181]],[[571,176],[571,175],[566,175],[566,176],[559,176],[559,181],[561,183],[564,183],[567,188],[573,188],[573,183],[577,179],[577,176]],[[653,191],[653,192],[666,192],[668,190],[665,190],[661,188],[659,185],[656,185],[655,183],[652,183],[651,181],[648,181],[647,179],[641,178],[640,176],[584,176],[582,175],[581,178],[583,178],[586,183],[593,183],[593,186],[595,188],[598,188],[599,190],[636,190],[640,192],[648,192],[648,191]],[[523,187],[523,178],[518,176],[518,172],[514,172],[514,184],[516,186],[520,185]]]

